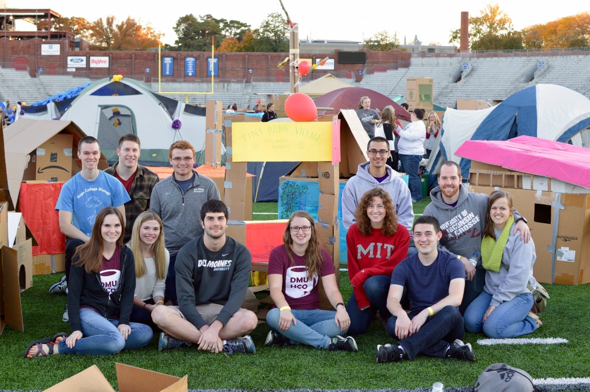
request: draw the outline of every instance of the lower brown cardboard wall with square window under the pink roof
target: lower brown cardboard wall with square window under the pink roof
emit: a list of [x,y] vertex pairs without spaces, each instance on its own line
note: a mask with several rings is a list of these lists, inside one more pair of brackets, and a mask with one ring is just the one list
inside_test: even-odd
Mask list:
[[[528,221],[535,242],[536,261],[533,275],[537,281],[552,283],[552,262],[555,261],[555,283],[579,285],[590,282],[590,195],[573,195],[534,189],[470,186],[470,192],[490,195],[496,189],[506,190],[514,198],[514,207]],[[558,208],[557,197],[563,209]],[[548,250],[555,236],[555,259]]]

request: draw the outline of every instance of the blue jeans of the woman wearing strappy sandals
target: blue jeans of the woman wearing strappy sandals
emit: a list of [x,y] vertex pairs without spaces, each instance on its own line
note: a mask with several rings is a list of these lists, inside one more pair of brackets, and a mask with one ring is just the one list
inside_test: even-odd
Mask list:
[[112,318],[104,318],[93,309],[80,309],[80,323],[82,324],[82,336],[76,341],[76,345],[68,348],[65,340],[60,341],[60,354],[89,354],[108,355],[117,354],[121,350],[140,348],[152,340],[152,328],[145,324],[129,322],[131,333],[127,340],[117,330],[119,321]]

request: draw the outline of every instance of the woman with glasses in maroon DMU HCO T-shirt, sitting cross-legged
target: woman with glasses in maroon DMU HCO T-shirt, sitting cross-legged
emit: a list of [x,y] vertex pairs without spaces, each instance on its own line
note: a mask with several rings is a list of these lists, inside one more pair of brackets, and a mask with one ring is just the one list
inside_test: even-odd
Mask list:
[[[268,258],[268,286],[275,308],[266,316],[264,345],[307,344],[329,351],[358,351],[354,338],[343,338],[350,318],[336,284],[334,263],[320,247],[313,218],[305,211],[291,214],[283,245]],[[336,311],[320,309],[319,277]]]

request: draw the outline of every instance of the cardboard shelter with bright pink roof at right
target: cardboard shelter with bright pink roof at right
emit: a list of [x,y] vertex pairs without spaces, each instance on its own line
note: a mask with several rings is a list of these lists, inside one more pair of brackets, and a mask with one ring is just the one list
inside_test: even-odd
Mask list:
[[530,136],[470,140],[456,154],[473,160],[470,191],[506,190],[535,242],[533,275],[542,283],[590,282],[590,153]]

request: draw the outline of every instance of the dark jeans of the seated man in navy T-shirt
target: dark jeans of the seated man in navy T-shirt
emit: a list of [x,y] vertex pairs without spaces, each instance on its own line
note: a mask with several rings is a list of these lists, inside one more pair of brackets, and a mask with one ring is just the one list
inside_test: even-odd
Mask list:
[[[409,318],[414,318],[418,313],[410,313]],[[448,345],[455,339],[463,339],[465,336],[463,317],[457,308],[450,305],[442,308],[434,316],[428,317],[418,332],[405,339],[400,340],[395,335],[397,319],[395,316],[389,317],[385,331],[398,341],[411,360],[416,358],[418,353],[444,358]]]

